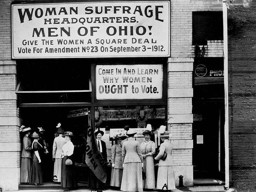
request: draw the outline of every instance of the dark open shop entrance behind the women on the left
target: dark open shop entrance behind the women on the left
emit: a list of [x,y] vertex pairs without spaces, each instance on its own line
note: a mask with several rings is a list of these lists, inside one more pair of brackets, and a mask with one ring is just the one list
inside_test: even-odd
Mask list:
[[[87,137],[88,129],[88,114],[74,117],[68,117],[70,111],[78,109],[86,109],[87,107],[22,107],[20,108],[20,115],[23,123],[31,129],[42,127],[44,131],[44,139],[48,144],[49,153],[45,155],[45,161],[42,162],[44,181],[46,186],[53,183],[53,167],[52,161],[52,145],[54,140],[54,133],[56,126],[61,123],[64,131],[71,131],[75,136],[72,139],[74,144],[74,155],[76,164],[76,176],[78,178],[79,186],[87,184],[90,171],[85,166],[85,146],[84,137]],[[79,110],[78,110],[79,111]],[[53,183],[56,185],[56,183]]]

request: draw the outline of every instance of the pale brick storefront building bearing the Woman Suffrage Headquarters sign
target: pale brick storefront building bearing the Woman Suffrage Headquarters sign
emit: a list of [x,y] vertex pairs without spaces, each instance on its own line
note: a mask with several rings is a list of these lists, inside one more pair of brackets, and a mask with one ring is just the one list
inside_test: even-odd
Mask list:
[[105,131],[108,149],[124,125],[140,133],[151,124],[159,146],[157,129],[166,125],[176,186],[180,175],[185,186],[195,178],[224,180],[221,3],[0,5],[1,188],[20,184],[22,124],[43,127],[51,146],[61,122],[76,136],[76,163],[83,164],[80,136],[89,111],[95,128]]

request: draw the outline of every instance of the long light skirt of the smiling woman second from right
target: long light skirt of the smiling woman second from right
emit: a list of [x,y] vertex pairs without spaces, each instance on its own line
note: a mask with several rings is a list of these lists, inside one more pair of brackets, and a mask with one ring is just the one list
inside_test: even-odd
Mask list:
[[156,186],[154,160],[153,156],[148,156],[143,163],[144,172],[146,172],[146,179],[143,180],[143,188],[154,189]]

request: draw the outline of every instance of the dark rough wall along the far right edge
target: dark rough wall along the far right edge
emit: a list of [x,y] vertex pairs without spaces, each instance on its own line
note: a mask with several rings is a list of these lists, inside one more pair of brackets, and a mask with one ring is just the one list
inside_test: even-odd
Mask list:
[[228,11],[230,186],[256,189],[256,4]]

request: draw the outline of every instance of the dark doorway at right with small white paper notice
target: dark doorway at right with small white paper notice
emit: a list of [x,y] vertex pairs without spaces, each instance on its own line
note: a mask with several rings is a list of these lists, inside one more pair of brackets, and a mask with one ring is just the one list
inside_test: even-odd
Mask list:
[[197,103],[193,113],[194,178],[224,179],[224,108]]

